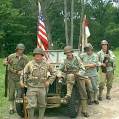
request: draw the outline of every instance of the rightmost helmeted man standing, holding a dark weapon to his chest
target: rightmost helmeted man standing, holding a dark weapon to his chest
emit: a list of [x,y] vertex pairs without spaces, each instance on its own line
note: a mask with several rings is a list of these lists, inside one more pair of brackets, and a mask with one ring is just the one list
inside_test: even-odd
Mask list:
[[115,55],[109,50],[109,43],[106,40],[101,41],[101,51],[98,53],[99,62],[101,63],[100,83],[99,83],[99,100],[102,100],[102,93],[106,83],[106,99],[110,100],[110,90],[114,78]]

